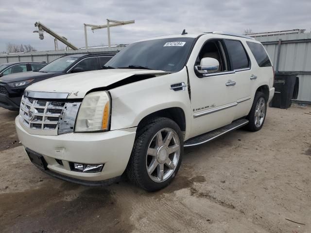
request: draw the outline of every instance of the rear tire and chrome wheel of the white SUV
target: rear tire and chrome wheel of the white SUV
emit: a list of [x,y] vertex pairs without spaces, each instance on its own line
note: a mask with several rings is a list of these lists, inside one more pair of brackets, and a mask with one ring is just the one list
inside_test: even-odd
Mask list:
[[255,94],[254,102],[252,108],[247,116],[249,120],[245,128],[249,131],[255,132],[259,131],[264,123],[267,113],[267,100],[265,95],[258,91]]

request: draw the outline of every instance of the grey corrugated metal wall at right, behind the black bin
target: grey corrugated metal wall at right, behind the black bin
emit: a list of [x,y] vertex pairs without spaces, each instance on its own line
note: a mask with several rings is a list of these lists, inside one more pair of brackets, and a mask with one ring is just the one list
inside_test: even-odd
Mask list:
[[276,69],[298,73],[297,100],[311,103],[311,33],[261,36],[255,39],[264,45]]

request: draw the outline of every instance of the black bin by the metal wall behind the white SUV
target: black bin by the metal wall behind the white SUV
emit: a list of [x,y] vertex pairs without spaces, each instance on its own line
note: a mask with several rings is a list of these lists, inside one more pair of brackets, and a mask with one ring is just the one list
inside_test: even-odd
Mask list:
[[274,97],[269,106],[275,108],[289,108],[292,100],[297,99],[299,90],[299,78],[295,72],[278,71],[275,74]]

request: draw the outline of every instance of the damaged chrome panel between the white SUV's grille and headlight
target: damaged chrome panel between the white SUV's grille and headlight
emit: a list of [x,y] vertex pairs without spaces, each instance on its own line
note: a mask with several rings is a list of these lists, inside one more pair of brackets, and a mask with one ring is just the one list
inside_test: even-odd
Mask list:
[[58,134],[74,132],[74,124],[81,102],[65,103],[58,120]]

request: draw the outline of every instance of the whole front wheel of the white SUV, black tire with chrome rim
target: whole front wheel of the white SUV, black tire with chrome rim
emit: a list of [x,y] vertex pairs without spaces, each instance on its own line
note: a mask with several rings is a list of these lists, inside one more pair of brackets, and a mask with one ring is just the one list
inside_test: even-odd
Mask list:
[[183,155],[183,134],[171,119],[158,117],[142,127],[126,168],[129,180],[147,191],[172,182]]

